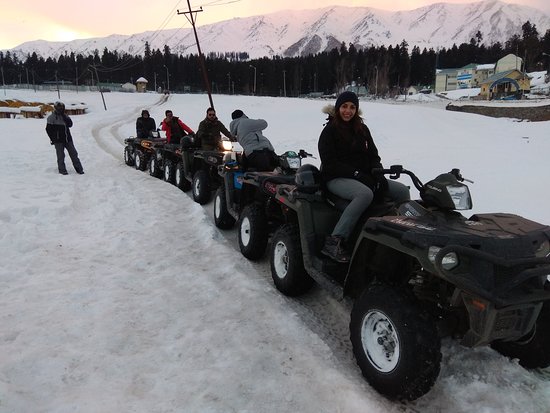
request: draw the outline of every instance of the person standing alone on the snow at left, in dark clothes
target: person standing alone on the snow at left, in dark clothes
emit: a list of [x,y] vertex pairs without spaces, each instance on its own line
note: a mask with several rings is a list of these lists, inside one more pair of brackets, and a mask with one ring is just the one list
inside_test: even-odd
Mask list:
[[75,171],[82,175],[84,168],[82,168],[82,163],[78,158],[78,152],[74,147],[73,137],[69,130],[73,126],[73,121],[65,114],[65,104],[63,102],[55,102],[53,107],[53,113],[46,119],[46,133],[50,138],[50,143],[55,145],[59,173],[67,175],[67,168],[65,167],[65,149],[67,149]]

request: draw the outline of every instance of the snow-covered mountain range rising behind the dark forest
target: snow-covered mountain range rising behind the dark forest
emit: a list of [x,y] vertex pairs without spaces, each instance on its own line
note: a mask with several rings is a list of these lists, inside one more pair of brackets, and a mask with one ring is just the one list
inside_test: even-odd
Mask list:
[[[469,4],[436,3],[410,11],[389,12],[370,7],[326,7],[281,11],[264,16],[233,18],[197,28],[203,53],[248,52],[251,58],[298,56],[330,50],[342,42],[357,47],[396,45],[406,40],[409,49],[452,47],[469,42],[480,31],[483,43],[504,43],[530,21],[542,35],[550,16],[540,10],[484,0]],[[173,53],[197,53],[191,27],[147,31],[134,35],[48,42],[26,42],[11,49],[21,57],[36,52],[57,57],[65,52],[92,54],[104,48],[142,54],[145,42],[152,49],[170,47]]]

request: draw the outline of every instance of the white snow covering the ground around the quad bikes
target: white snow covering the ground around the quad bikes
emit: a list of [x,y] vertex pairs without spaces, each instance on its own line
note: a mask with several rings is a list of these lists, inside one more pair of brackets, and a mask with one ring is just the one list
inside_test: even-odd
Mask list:
[[[52,102],[56,92],[0,90]],[[141,109],[196,128],[205,95],[62,92],[87,114],[72,133],[86,174],[57,173],[45,119],[1,119],[0,412],[549,412],[550,371],[446,339],[434,388],[394,403],[355,364],[348,304],[320,288],[287,298],[251,263],[212,203],[127,167]],[[361,102],[384,164],[424,181],[451,168],[476,212],[550,223],[550,122],[444,105]],[[317,154],[326,101],[214,96],[220,119],[265,118],[277,152]],[[318,159],[311,160],[318,165]],[[403,182],[408,183],[406,180]],[[414,194],[415,196],[417,194]]]

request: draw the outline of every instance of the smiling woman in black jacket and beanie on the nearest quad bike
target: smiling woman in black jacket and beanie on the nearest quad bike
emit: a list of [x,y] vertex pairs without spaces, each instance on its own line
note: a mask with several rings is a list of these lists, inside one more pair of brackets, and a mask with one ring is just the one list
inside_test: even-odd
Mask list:
[[325,112],[329,121],[318,145],[321,176],[331,193],[351,202],[326,238],[321,253],[338,262],[349,262],[345,242],[375,194],[385,193],[396,202],[410,199],[410,194],[405,185],[372,173],[382,163],[369,128],[360,116],[355,93],[343,92],[335,106],[325,108]]

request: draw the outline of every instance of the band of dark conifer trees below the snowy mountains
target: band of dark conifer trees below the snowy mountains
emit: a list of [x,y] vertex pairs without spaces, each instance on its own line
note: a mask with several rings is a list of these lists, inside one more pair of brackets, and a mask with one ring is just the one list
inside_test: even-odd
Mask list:
[[[496,63],[513,53],[524,60],[524,71],[550,69],[550,29],[540,35],[529,21],[522,34],[504,44],[483,44],[483,34],[469,43],[450,48],[420,50],[403,40],[394,46],[357,47],[342,43],[339,48],[309,56],[249,59],[246,52],[210,53],[204,63],[213,93],[300,96],[333,94],[346,85],[365,86],[379,95],[402,92],[410,85],[430,87],[435,70],[459,68],[469,63]],[[148,89],[173,92],[206,90],[198,54],[177,55],[168,46],[152,50],[145,43],[143,55],[110,51],[100,54],[65,53],[57,59],[36,53],[25,60],[7,51],[0,52],[3,84],[70,83],[97,85],[126,83],[139,77],[148,80]]]

